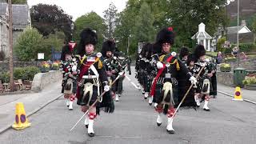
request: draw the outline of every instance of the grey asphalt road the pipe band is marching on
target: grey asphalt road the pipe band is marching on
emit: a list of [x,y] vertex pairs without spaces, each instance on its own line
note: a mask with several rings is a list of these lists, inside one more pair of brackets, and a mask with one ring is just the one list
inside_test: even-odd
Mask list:
[[[130,76],[133,81],[134,76]],[[203,104],[203,103],[202,103]],[[176,134],[166,133],[167,118],[157,126],[157,113],[142,93],[125,79],[124,92],[115,102],[114,114],[101,112],[94,122],[95,137],[87,136],[86,127],[80,122],[74,131],[70,128],[82,116],[80,107],[67,110],[64,98],[32,115],[26,130],[7,130],[0,135],[0,143],[251,143],[256,142],[256,105],[234,102],[218,94],[211,99],[210,112],[179,110],[174,119]]]

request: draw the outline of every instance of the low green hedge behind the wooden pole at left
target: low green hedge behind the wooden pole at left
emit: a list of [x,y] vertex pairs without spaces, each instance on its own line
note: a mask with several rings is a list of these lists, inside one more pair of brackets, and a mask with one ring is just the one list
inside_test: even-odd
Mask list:
[[[27,66],[27,67],[17,67],[14,68],[14,78],[25,78],[32,81],[35,74],[40,73],[40,70],[36,66]],[[0,78],[10,78],[9,72],[4,72],[0,74]]]

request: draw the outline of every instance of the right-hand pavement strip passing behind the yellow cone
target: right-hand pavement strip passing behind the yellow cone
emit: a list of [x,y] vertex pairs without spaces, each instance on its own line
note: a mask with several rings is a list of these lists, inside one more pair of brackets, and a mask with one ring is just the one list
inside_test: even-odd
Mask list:
[[[218,93],[224,94],[229,97],[234,98],[234,87],[226,86],[221,83],[218,83],[217,86]],[[244,88],[241,89],[242,98],[246,102],[250,102],[256,104],[256,90],[246,90]]]

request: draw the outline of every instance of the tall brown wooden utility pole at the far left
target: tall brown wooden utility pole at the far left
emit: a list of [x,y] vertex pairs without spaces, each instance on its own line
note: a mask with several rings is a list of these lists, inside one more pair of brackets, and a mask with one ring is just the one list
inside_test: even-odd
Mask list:
[[9,7],[9,70],[10,70],[10,91],[14,90],[14,59],[13,59],[13,9],[11,0],[8,0]]

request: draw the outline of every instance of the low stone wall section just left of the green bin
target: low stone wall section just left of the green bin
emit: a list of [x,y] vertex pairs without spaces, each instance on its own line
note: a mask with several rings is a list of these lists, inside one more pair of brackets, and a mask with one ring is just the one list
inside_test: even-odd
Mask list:
[[234,86],[233,72],[217,72],[217,82],[226,86]]

